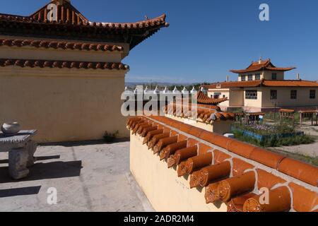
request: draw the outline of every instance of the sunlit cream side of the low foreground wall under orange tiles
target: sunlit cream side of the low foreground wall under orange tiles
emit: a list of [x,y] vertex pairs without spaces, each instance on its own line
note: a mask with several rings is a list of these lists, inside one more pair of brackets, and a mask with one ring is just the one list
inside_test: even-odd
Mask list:
[[130,169],[156,211],[160,212],[226,212],[222,204],[206,204],[205,190],[189,188],[189,178],[177,177],[165,160],[153,155],[142,138],[131,134]]

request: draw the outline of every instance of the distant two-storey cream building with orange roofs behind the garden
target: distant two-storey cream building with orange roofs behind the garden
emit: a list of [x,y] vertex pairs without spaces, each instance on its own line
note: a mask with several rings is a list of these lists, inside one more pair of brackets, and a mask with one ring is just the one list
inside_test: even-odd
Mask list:
[[247,69],[231,70],[238,74],[238,81],[205,85],[209,97],[228,97],[220,108],[243,108],[247,112],[272,111],[277,107],[300,109],[318,107],[318,83],[316,81],[285,80],[285,71],[270,59],[252,62]]

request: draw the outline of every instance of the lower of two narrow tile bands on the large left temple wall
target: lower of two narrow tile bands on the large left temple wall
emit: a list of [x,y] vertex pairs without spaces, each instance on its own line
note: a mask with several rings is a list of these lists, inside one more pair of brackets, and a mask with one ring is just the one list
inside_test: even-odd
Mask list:
[[109,69],[129,70],[129,66],[122,63],[84,62],[84,61],[45,61],[32,59],[0,59],[0,66],[20,66],[59,69]]

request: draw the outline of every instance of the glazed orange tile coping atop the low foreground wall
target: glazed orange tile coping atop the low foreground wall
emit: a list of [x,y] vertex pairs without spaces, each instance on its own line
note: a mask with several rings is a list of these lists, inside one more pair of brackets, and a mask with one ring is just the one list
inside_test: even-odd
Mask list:
[[[167,117],[133,117],[127,128],[177,166],[178,177],[189,174],[191,188],[205,187],[206,203],[221,201],[232,212],[317,210],[317,167]],[[261,188],[269,189],[269,204],[261,203]]]

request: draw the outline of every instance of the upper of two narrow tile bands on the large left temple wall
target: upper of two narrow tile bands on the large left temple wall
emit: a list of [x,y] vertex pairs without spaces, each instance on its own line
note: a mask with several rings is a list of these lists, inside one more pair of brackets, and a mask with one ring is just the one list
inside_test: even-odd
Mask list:
[[36,47],[52,49],[71,49],[71,50],[94,50],[94,51],[117,51],[123,52],[124,47],[113,44],[98,44],[84,42],[59,42],[54,40],[21,40],[21,39],[0,39],[0,47]]

